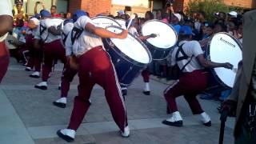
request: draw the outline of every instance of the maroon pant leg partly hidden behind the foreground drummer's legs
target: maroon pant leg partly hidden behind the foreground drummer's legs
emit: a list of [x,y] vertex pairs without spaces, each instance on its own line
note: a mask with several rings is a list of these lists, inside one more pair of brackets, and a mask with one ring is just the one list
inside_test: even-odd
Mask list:
[[66,98],[67,94],[70,90],[70,82],[73,81],[75,74],[77,74],[77,70],[73,70],[70,68],[70,62],[66,62],[66,66],[62,71],[62,84],[61,84],[61,97]]

